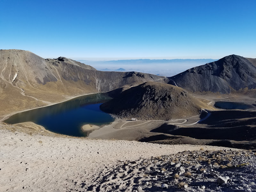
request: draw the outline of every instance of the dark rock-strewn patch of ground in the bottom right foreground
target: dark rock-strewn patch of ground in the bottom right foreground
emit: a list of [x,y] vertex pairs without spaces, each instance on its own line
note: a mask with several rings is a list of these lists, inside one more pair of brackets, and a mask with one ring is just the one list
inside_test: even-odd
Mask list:
[[184,151],[108,168],[93,191],[256,191],[255,151]]

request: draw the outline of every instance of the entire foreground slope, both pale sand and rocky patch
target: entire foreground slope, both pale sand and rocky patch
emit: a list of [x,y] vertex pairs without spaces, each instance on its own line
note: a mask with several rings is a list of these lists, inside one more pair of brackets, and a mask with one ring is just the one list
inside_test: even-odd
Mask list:
[[[190,150],[190,151],[188,151]],[[0,191],[255,191],[255,151],[68,137],[0,123]]]

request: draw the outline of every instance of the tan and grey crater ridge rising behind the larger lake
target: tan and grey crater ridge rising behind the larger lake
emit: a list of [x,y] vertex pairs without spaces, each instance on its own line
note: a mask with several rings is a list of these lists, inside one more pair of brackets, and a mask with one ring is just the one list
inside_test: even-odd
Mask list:
[[97,71],[64,57],[44,59],[29,51],[0,50],[0,116],[146,81],[169,80],[137,72]]

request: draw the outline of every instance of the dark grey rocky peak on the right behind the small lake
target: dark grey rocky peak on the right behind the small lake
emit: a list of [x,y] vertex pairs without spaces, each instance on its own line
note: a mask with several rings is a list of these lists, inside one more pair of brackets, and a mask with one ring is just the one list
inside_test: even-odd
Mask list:
[[[253,59],[252,59],[253,60]],[[229,55],[218,61],[188,69],[169,78],[192,92],[230,93],[231,90],[256,88],[256,67],[248,59]]]

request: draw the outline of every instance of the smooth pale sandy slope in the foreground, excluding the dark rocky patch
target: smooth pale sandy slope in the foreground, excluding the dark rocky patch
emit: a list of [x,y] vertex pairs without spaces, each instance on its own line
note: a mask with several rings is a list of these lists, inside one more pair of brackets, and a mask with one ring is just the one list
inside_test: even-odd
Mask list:
[[[119,161],[199,150],[202,146],[159,145],[124,140],[32,136],[0,129],[0,191],[83,191],[95,174]],[[204,146],[205,149],[223,147]],[[96,174],[97,175],[97,174]],[[74,182],[77,182],[74,185]],[[72,184],[72,185],[71,185]]]

